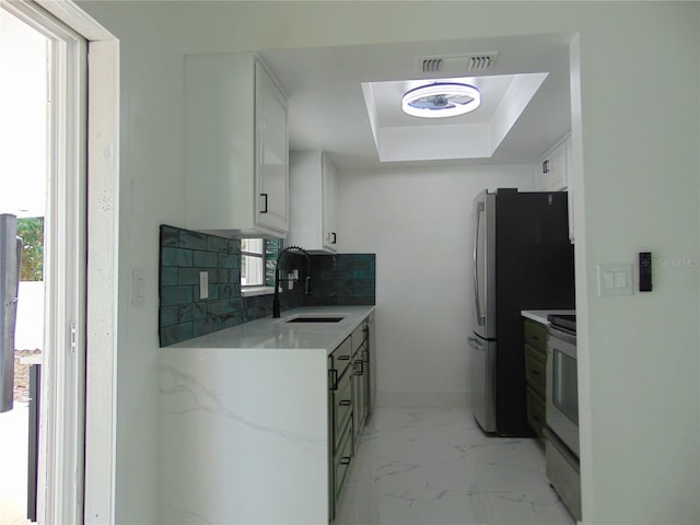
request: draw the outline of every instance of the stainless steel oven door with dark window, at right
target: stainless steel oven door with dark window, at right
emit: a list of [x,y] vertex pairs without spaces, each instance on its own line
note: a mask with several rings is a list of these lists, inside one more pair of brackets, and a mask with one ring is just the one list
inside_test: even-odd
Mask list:
[[547,337],[547,425],[579,457],[576,336],[553,326]]

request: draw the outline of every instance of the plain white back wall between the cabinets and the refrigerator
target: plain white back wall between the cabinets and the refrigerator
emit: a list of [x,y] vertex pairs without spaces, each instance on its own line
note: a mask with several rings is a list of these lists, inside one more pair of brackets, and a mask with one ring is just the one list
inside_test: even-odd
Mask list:
[[469,406],[476,195],[533,166],[342,172],[339,249],[376,254],[377,406]]

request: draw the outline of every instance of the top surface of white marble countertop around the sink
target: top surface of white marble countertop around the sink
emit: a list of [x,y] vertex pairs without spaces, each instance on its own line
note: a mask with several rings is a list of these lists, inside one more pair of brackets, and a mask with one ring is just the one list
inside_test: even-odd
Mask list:
[[[374,306],[305,306],[283,311],[281,317],[264,317],[233,328],[214,331],[161,350],[171,349],[276,349],[334,351]],[[338,323],[288,323],[300,316],[338,316]]]

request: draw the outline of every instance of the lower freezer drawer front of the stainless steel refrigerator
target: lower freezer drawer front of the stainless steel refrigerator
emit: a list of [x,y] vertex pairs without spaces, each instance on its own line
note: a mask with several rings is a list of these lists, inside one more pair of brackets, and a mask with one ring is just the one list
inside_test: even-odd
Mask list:
[[485,432],[495,432],[495,341],[469,338],[471,349],[471,407]]

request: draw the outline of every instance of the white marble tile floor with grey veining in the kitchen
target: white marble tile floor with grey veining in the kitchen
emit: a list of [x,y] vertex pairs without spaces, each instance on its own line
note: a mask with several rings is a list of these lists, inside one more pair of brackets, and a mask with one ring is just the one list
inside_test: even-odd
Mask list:
[[486,436],[468,409],[375,409],[337,525],[571,525],[530,439]]

